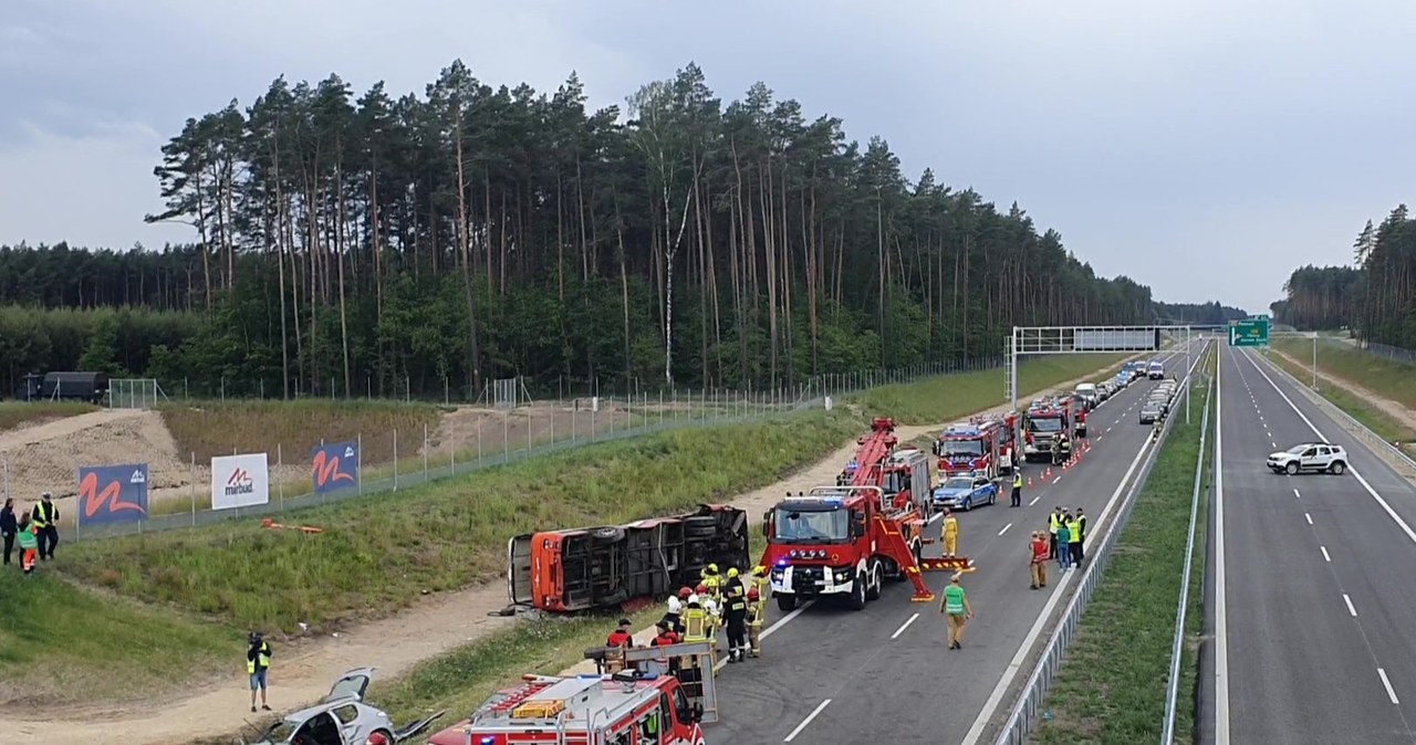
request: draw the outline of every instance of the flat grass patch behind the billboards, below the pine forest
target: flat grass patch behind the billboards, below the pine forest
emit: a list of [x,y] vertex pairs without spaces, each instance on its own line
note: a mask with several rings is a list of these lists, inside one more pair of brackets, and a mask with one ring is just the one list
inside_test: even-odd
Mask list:
[[389,433],[412,452],[423,440],[423,427],[438,427],[446,409],[402,401],[183,401],[159,407],[167,431],[184,457],[197,462],[234,452],[269,452],[278,448],[286,462],[306,462],[310,450],[364,435],[360,459],[365,464],[394,458]]

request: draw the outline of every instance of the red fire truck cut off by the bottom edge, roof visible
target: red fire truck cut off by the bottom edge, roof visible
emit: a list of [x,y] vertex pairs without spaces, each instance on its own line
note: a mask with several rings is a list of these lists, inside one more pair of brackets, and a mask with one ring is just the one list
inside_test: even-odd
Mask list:
[[704,745],[702,725],[718,721],[711,645],[632,649],[626,659],[634,667],[613,674],[523,676],[428,744]]

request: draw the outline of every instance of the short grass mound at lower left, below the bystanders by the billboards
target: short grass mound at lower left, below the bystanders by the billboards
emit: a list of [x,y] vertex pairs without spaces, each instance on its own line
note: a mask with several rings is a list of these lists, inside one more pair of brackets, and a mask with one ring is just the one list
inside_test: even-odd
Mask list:
[[[61,556],[67,551],[61,551]],[[241,657],[241,633],[75,587],[47,564],[0,571],[0,705],[136,700]],[[235,656],[234,656],[235,655]]]

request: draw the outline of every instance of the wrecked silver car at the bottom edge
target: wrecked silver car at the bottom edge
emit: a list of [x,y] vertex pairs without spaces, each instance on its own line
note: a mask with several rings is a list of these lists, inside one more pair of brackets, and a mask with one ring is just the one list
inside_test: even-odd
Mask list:
[[252,745],[398,745],[445,714],[439,711],[399,729],[384,710],[364,703],[372,679],[372,667],[344,673],[319,704],[286,715]]

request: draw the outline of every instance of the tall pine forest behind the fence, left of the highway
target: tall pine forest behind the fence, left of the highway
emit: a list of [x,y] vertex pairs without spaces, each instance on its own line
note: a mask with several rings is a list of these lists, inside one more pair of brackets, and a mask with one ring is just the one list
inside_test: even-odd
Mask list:
[[146,219],[191,245],[0,249],[0,301],[86,318],[110,366],[280,396],[777,385],[1155,317],[1017,204],[908,178],[763,83],[724,106],[695,65],[599,110],[573,74],[538,93],[460,61],[423,96],[279,78],[188,119],[154,177]]

